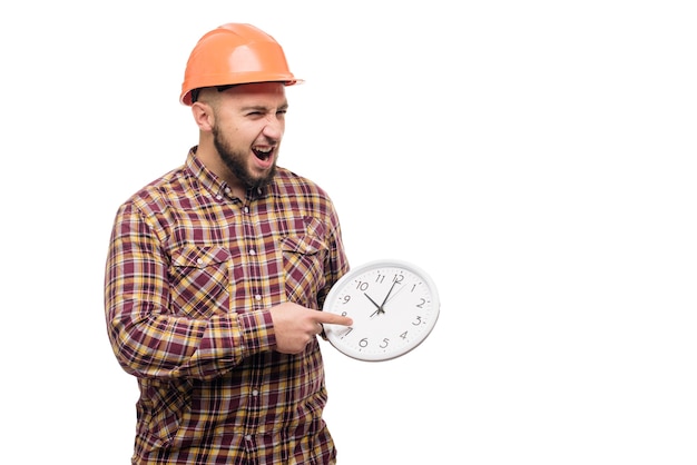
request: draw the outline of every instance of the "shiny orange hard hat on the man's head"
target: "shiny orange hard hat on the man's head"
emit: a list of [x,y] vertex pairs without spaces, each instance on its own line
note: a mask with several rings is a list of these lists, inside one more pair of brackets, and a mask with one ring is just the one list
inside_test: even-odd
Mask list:
[[252,24],[223,24],[198,40],[186,63],[179,101],[192,105],[192,90],[251,82],[302,82],[288,70],[276,40]]

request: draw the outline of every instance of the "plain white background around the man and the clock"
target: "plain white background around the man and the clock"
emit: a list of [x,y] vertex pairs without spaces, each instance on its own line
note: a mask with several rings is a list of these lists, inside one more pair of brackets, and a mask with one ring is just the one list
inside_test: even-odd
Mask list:
[[3,3],[2,462],[128,463],[111,220],[197,141],[195,42],[251,22],[306,80],[282,165],[328,190],[354,265],[409,259],[441,294],[400,359],[323,345],[340,464],[694,465],[691,4]]

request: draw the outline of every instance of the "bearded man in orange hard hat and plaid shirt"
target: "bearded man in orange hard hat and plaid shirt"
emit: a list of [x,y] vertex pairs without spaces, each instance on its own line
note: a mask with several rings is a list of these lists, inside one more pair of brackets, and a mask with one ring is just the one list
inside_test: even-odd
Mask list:
[[333,464],[317,311],[348,269],[334,207],[276,165],[298,80],[229,23],[198,41],[180,101],[198,145],[117,211],[107,329],[138,378],[134,464]]

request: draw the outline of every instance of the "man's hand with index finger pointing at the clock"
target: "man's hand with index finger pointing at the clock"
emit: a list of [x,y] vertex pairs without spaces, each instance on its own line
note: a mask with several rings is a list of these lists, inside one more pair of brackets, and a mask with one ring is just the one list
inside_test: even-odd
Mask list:
[[322,334],[322,325],[325,323],[353,325],[348,317],[313,310],[292,301],[272,307],[271,317],[276,333],[276,350],[282,354],[300,354],[305,350],[305,346]]

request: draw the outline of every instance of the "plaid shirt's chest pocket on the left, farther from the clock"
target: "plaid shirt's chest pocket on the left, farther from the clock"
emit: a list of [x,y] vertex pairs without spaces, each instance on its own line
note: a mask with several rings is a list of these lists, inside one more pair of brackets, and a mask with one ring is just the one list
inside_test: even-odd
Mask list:
[[171,254],[171,300],[177,314],[209,318],[229,309],[229,250],[184,246]]

